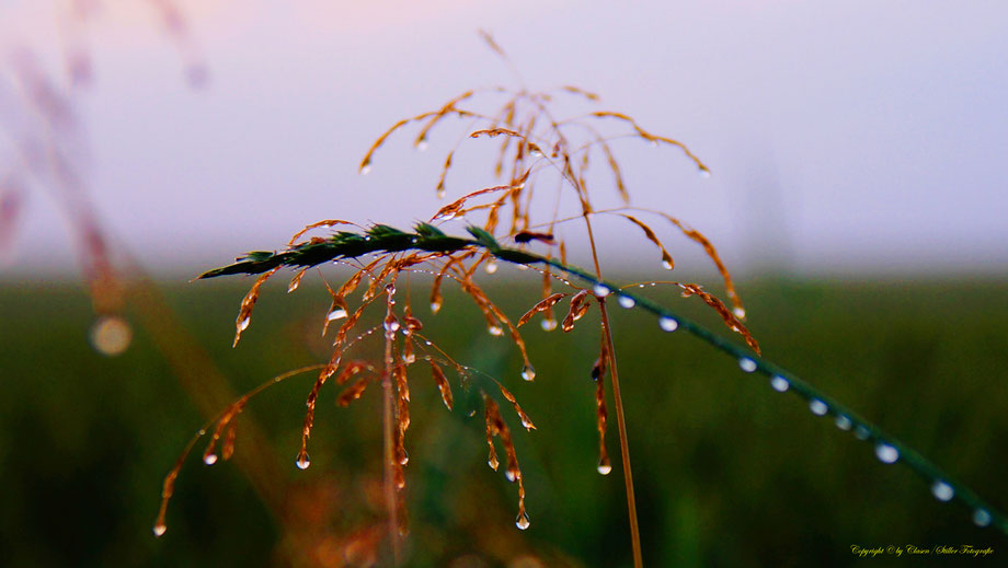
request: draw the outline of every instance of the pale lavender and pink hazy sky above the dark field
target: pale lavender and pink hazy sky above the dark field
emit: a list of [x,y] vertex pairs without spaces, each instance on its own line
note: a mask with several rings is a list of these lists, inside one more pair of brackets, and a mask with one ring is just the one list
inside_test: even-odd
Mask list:
[[[584,86],[687,142],[712,177],[671,149],[616,150],[635,204],[701,229],[730,266],[1008,273],[1000,2],[177,2],[209,68],[202,90],[149,2],[103,3],[83,36],[94,82],[75,96],[89,187],[106,225],[160,273],[274,248],[319,219],[429,216],[460,131],[426,153],[393,138],[366,177],[356,165],[396,120],[513,82],[478,28],[530,88]],[[54,13],[0,1],[0,48],[28,45],[58,73]],[[462,165],[449,188],[493,185],[483,171]],[[58,207],[44,192],[27,205],[3,271],[75,266]],[[626,228],[604,229],[610,252],[630,248],[616,239]]]

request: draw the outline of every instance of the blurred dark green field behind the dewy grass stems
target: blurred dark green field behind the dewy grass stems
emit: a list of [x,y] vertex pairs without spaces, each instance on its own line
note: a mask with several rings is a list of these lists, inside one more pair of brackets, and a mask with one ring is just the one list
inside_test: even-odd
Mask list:
[[[267,285],[231,349],[249,283],[165,291],[234,393],[328,358],[319,337],[328,293],[307,279],[291,295]],[[537,299],[524,285],[488,290],[515,318]],[[758,281],[741,291],[771,360],[1008,508],[1003,281]],[[435,317],[426,293],[414,291],[424,334],[502,380],[538,430],[525,432],[505,413],[528,490],[531,528],[520,532],[516,489],[486,467],[482,421],[467,417],[473,401],[455,383],[459,404],[448,413],[429,371],[416,368],[406,438],[409,564],[629,566],[615,418],[614,473],[603,477],[595,468],[588,373],[597,310],[571,334],[526,329],[538,375],[525,383],[516,350],[485,333],[471,301],[447,294]],[[723,329],[696,299],[652,293]],[[379,389],[344,409],[327,385],[312,465],[301,472],[294,462],[313,380],[307,374],[266,391],[239,421],[237,454],[257,453],[278,472],[272,479],[280,507],[265,506],[233,461],[203,465],[201,444],[177,480],[169,531],[154,538],[163,475],[205,421],[191,391],[141,326],[126,353],[95,352],[90,303],[75,283],[0,285],[0,565],[339,566],[333,549],[341,538],[380,522]],[[619,311],[614,326],[648,566],[849,566],[861,561],[851,545],[972,544],[992,546],[995,558],[1008,555],[1005,535],[975,528],[966,509],[938,502],[913,473],[880,464],[864,442],[742,373],[735,361],[685,334],[661,333],[643,313]],[[199,364],[180,362],[188,363]],[[253,424],[268,440],[255,452],[245,436]],[[883,556],[872,565],[919,564]]]

